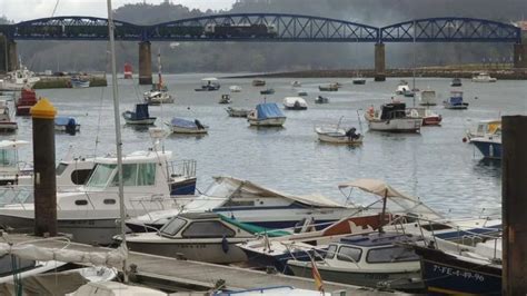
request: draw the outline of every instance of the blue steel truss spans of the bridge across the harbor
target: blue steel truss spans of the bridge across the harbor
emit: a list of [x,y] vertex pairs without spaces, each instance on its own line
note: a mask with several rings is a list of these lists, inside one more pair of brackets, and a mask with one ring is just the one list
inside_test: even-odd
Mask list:
[[[286,13],[216,14],[152,26],[115,21],[125,41],[257,42],[513,42],[519,28],[484,19],[430,18],[382,28],[330,18]],[[108,20],[54,17],[0,26],[9,40],[108,40]]]

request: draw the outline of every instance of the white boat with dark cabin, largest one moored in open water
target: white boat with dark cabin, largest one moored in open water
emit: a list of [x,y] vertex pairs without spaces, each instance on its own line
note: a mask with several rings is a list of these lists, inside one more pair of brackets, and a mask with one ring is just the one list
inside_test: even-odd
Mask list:
[[365,114],[370,130],[391,132],[419,132],[422,118],[410,117],[406,112],[406,103],[390,102],[380,107],[380,110],[369,108]]

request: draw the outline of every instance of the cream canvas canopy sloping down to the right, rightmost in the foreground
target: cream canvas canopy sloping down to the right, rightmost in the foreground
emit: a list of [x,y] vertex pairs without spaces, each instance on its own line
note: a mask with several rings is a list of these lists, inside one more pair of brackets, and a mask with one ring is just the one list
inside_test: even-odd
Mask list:
[[[390,204],[395,204],[401,208],[404,213],[418,214],[428,219],[441,219],[443,216],[422,204],[419,198],[401,194],[387,185],[382,180],[378,179],[357,179],[349,182],[344,182],[338,186],[339,189],[346,188],[358,188],[362,191],[377,195],[381,198],[386,198]],[[388,207],[394,209],[392,207]]]

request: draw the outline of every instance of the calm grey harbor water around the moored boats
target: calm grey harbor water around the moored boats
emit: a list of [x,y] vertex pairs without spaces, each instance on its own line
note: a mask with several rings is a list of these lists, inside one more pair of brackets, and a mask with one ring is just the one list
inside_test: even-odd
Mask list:
[[[215,77],[221,75],[215,73]],[[231,75],[229,75],[231,76]],[[202,137],[171,135],[165,140],[167,150],[177,159],[198,160],[198,187],[203,190],[211,176],[229,175],[266,185],[291,194],[318,193],[344,200],[338,190],[339,182],[356,178],[384,179],[395,188],[418,196],[426,204],[451,216],[478,215],[499,210],[501,186],[500,162],[484,161],[471,145],[461,141],[465,131],[480,119],[493,119],[500,115],[525,114],[527,109],[526,81],[498,81],[474,83],[464,80],[461,89],[470,103],[468,110],[446,110],[434,107],[443,115],[441,127],[424,127],[420,135],[392,135],[367,130],[364,111],[370,105],[378,107],[388,102],[399,79],[374,82],[365,86],[351,85],[351,79],[266,79],[267,86],[276,90],[266,96],[267,101],[296,96],[298,90],[309,93],[306,111],[285,111],[287,121],[282,129],[250,128],[246,119],[229,118],[225,105],[219,105],[221,93],[238,85],[242,91],[231,93],[232,107],[255,107],[264,96],[251,86],[252,79],[220,79],[220,91],[196,92],[200,79],[209,75],[163,76],[176,103],[150,107],[158,117],[157,126],[172,117],[198,118],[210,126],[209,135]],[[299,80],[301,88],[291,88],[291,80]],[[314,99],[318,86],[339,81],[344,87],[338,92],[322,92],[329,97],[327,105],[316,105]],[[411,79],[408,80],[411,85]],[[449,79],[418,78],[420,89],[431,88],[438,101],[448,97]],[[137,86],[131,80],[119,80],[121,112],[132,109],[142,100],[148,86]],[[57,135],[57,159],[68,150],[74,155],[115,154],[115,129],[111,87],[88,89],[39,90],[48,97],[62,116],[73,116],[81,124],[76,136]],[[477,99],[476,99],[477,97]],[[404,99],[409,106],[411,98]],[[357,115],[357,110],[359,116]],[[314,132],[316,125],[336,125],[344,117],[344,126],[355,126],[365,141],[361,147],[320,144]],[[31,119],[17,118],[17,137],[31,140]],[[147,149],[151,146],[148,130],[126,126],[122,118],[125,152]],[[32,161],[31,147],[22,149],[22,159]]]

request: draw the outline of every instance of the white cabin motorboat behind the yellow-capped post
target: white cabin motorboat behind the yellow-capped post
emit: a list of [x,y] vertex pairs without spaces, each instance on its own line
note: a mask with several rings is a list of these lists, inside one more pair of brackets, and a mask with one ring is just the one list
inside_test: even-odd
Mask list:
[[[177,208],[171,193],[192,182],[196,177],[176,175],[171,151],[136,151],[122,158],[125,206],[128,217],[149,211]],[[80,243],[110,244],[119,231],[118,171],[116,157],[98,157],[86,185],[57,194],[58,229],[71,234]],[[0,207],[0,224],[13,229],[33,227],[32,201],[18,201]]]

